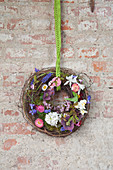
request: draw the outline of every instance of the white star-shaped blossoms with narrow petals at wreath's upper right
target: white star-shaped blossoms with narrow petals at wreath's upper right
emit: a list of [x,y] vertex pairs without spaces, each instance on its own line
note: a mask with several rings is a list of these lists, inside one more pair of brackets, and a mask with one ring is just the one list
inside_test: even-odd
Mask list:
[[81,89],[84,90],[85,85],[78,83],[78,81],[77,81],[77,76],[75,76],[75,77],[74,77],[73,75],[71,75],[71,76],[69,76],[69,77],[66,76],[66,79],[67,79],[68,81],[66,81],[66,82],[64,83],[64,86],[69,83],[70,88],[71,88],[72,83],[78,84],[78,86],[79,86],[78,95],[80,94],[80,90],[81,90]]

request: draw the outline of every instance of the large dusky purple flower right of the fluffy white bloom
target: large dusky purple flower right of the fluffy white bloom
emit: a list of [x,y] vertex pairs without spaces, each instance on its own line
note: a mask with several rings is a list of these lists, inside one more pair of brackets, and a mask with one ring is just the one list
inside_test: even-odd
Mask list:
[[61,124],[63,125],[63,128],[64,128],[65,130],[70,130],[70,131],[72,131],[73,128],[74,128],[74,123],[73,123],[72,120],[69,121],[69,118],[70,118],[70,116],[66,116],[66,118],[63,118],[62,121],[61,121]]

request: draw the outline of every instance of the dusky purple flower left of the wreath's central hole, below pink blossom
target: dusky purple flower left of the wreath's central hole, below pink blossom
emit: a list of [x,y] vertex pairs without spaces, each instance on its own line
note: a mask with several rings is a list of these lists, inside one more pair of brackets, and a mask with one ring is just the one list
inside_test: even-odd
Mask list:
[[54,91],[54,88],[52,89],[47,89],[45,92],[44,92],[44,95],[43,95],[43,100],[51,100],[51,96],[55,94],[55,91]]

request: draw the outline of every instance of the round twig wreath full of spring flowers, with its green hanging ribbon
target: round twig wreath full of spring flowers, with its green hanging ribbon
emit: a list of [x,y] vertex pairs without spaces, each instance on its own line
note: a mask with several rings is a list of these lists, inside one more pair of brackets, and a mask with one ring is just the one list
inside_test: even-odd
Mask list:
[[[51,136],[67,136],[77,130],[88,115],[91,96],[82,75],[60,69],[61,9],[54,2],[56,68],[38,70],[25,82],[22,94],[23,115],[38,131]],[[56,94],[65,92],[62,104]]]

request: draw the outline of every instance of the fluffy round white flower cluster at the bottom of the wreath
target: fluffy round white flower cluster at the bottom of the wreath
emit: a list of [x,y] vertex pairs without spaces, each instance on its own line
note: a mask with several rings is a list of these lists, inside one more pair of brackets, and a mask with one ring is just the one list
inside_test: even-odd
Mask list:
[[50,112],[46,114],[45,121],[51,125],[57,127],[58,121],[61,122],[61,115],[57,112]]

